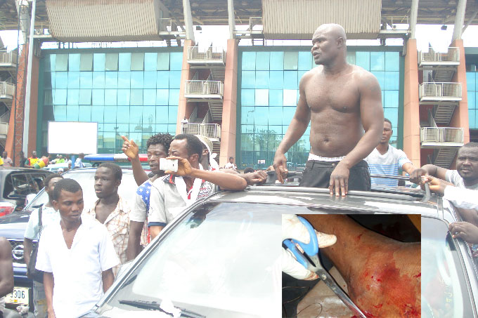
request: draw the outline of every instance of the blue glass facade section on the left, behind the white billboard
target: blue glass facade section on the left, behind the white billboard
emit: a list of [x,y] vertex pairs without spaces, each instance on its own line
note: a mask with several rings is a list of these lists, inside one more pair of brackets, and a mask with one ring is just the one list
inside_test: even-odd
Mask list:
[[44,50],[39,67],[39,134],[48,121],[98,122],[98,153],[121,152],[121,135],[142,152],[154,133],[176,133],[182,48]]

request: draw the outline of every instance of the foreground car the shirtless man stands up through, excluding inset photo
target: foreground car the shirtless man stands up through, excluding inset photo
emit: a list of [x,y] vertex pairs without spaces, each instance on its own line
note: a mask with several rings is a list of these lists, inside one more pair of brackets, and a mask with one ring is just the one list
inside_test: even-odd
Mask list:
[[186,208],[84,317],[139,317],[162,303],[181,317],[279,317],[283,213],[420,213],[422,317],[478,317],[477,270],[467,244],[448,233],[456,213],[440,197],[283,186],[218,192]]

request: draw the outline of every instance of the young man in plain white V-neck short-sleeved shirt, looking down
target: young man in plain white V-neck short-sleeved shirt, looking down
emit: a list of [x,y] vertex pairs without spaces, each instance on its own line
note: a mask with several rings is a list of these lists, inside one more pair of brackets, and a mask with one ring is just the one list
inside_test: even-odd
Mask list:
[[60,222],[41,234],[37,270],[44,272],[48,317],[79,317],[112,285],[112,267],[120,261],[106,227],[82,215],[82,187],[63,179],[53,190]]

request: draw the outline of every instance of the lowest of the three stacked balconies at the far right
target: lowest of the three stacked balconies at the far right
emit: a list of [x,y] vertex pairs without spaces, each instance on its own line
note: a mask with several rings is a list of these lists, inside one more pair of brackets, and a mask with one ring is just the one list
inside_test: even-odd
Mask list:
[[461,147],[463,146],[463,128],[422,127],[420,143],[422,148]]

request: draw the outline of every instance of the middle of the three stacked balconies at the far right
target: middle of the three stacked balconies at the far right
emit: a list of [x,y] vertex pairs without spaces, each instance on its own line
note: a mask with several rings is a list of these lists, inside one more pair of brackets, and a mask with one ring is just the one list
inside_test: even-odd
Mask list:
[[459,102],[461,100],[461,83],[420,84],[420,102]]

